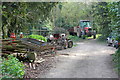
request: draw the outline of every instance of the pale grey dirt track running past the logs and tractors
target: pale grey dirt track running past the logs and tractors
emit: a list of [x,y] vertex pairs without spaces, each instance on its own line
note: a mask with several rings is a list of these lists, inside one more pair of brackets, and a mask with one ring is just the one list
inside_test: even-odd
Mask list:
[[76,47],[59,51],[59,60],[40,78],[118,78],[113,70],[114,48],[96,40],[79,42]]

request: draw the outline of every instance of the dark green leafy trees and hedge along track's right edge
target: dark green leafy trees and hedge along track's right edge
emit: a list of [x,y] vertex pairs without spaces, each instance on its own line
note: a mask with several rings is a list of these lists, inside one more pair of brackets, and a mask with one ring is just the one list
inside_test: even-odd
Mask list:
[[[92,6],[92,16],[94,24],[99,29],[102,36],[99,39],[106,39],[111,36],[116,36],[119,40],[120,34],[120,1],[116,2],[99,2]],[[116,63],[116,70],[120,73],[120,48],[113,55],[113,61]]]

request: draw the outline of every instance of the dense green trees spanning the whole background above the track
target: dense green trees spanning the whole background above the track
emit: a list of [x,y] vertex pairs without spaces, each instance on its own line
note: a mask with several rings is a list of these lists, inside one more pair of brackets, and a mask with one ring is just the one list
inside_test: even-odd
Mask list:
[[[19,35],[30,30],[47,27],[69,29],[78,26],[80,20],[92,21],[92,26],[105,40],[109,34],[120,36],[120,1],[118,2],[3,2],[2,39],[10,33]],[[119,40],[120,41],[120,40]],[[120,49],[114,55],[120,61]],[[120,64],[117,65],[118,70]],[[21,73],[23,74],[23,73]],[[20,76],[21,77],[21,76]]]

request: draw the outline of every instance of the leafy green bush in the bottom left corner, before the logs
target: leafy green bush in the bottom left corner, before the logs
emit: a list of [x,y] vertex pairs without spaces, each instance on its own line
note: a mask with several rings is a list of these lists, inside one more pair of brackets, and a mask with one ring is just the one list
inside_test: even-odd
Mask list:
[[16,57],[9,55],[7,59],[2,58],[0,61],[2,61],[0,63],[2,78],[23,78],[24,65]]

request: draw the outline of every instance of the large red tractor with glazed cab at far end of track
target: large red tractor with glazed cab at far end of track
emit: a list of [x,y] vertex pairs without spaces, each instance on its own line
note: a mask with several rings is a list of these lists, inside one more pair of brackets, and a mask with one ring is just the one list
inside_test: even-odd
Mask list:
[[78,37],[85,38],[85,35],[93,38],[96,38],[96,31],[92,29],[91,23],[89,20],[80,20],[79,26],[72,27],[68,29],[70,35],[76,35]]

